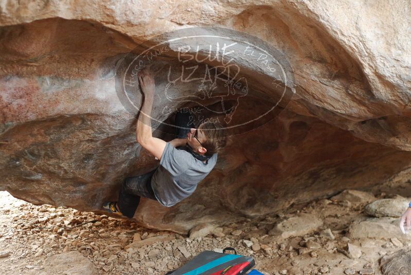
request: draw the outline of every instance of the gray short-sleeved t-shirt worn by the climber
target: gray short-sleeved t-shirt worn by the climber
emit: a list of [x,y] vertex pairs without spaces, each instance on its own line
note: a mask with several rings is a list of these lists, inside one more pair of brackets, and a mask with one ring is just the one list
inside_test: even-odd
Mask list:
[[204,163],[183,149],[174,148],[166,143],[151,184],[157,200],[165,207],[171,207],[190,196],[213,169],[217,153]]

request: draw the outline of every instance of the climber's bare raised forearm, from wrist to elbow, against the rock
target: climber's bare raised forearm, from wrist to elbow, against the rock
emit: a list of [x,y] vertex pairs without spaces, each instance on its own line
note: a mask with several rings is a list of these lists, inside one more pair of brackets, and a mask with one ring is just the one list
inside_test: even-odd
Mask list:
[[145,95],[136,127],[137,142],[140,144],[144,144],[153,138],[151,128],[151,112],[153,109],[153,102],[154,96]]

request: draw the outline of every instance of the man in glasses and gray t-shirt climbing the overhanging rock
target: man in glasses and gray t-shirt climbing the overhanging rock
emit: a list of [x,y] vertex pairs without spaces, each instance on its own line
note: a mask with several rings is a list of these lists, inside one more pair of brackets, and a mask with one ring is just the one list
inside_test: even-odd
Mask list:
[[154,79],[146,70],[138,73],[138,79],[144,101],[137,121],[137,142],[160,160],[160,166],[144,175],[126,178],[118,201],[103,205],[106,211],[128,218],[133,218],[140,197],[171,207],[190,196],[213,169],[217,152],[226,145],[226,133],[221,125],[204,122],[194,128],[190,124],[192,119],[183,113],[176,114],[177,139],[165,142],[154,138],[151,128]]

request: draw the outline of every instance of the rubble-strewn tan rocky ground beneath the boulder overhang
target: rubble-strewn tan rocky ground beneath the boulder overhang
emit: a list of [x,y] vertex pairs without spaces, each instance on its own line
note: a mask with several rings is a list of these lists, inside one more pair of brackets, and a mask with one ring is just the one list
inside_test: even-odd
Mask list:
[[408,199],[398,195],[347,190],[264,218],[200,225],[189,236],[7,192],[0,200],[0,274],[164,274],[228,246],[253,256],[264,274],[411,274],[411,237],[398,227]]

